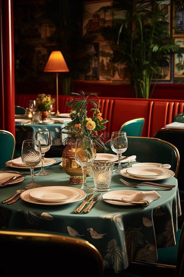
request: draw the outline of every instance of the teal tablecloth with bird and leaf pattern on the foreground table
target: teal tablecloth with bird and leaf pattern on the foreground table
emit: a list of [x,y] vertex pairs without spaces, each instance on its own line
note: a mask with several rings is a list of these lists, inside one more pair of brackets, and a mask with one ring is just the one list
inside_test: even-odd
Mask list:
[[[35,181],[43,186],[72,186],[68,183],[69,176],[59,165],[47,167],[47,170],[52,174],[35,176]],[[39,206],[20,199],[10,206],[0,204],[1,227],[55,231],[82,237],[100,251],[104,267],[114,268],[115,272],[128,267],[131,261],[156,262],[157,247],[175,245],[177,216],[181,215],[177,179],[172,177],[159,181],[176,185],[171,191],[164,191],[145,186],[125,187],[120,177],[119,174],[112,175],[112,190],[155,190],[161,197],[148,207],[115,206],[98,201],[88,214],[73,213],[82,201],[61,206]],[[26,176],[21,183],[0,188],[0,202],[21,189],[29,179],[30,176]],[[86,181],[94,187],[92,175]]]

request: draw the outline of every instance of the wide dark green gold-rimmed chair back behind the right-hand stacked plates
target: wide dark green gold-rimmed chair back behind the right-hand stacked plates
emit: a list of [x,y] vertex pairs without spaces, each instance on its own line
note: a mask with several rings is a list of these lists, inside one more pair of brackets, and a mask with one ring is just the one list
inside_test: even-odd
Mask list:
[[[105,146],[109,148],[108,153],[115,154],[110,147],[110,141]],[[167,141],[156,138],[128,137],[128,148],[122,155],[136,155],[136,160],[140,163],[169,163],[177,177],[179,152],[173,144]]]

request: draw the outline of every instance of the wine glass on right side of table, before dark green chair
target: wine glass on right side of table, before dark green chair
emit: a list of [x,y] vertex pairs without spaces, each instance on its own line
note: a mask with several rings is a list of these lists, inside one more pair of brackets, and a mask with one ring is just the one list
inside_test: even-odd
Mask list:
[[120,173],[121,167],[121,154],[127,150],[127,134],[126,132],[113,132],[111,135],[110,145],[112,150],[118,156],[118,169],[113,170],[113,173]]

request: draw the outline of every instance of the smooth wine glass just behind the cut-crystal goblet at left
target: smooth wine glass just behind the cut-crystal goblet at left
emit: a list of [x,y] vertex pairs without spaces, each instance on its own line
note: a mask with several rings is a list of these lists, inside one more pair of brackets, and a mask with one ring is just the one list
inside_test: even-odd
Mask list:
[[50,175],[51,172],[44,170],[44,155],[51,147],[51,134],[50,131],[41,130],[35,131],[35,139],[40,141],[41,145],[41,170],[35,173],[36,176],[47,176]]

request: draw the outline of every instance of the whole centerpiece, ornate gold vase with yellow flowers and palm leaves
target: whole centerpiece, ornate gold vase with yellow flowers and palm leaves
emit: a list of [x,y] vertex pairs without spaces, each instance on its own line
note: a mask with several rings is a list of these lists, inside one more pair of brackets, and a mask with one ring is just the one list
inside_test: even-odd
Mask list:
[[[65,173],[70,175],[69,183],[81,184],[83,183],[82,169],[75,162],[76,139],[91,139],[94,145],[107,151],[108,149],[102,141],[102,133],[99,134],[99,131],[106,128],[104,124],[108,122],[108,120],[102,118],[102,113],[99,110],[100,104],[96,100],[89,99],[90,95],[85,96],[82,90],[80,90],[79,93],[72,94],[78,96],[78,99],[73,99],[66,103],[68,107],[71,107],[70,118],[72,121],[67,123],[67,126],[63,128],[65,130],[62,132],[67,134],[67,137],[64,139],[64,144],[67,145],[63,150],[62,169]],[[91,116],[87,115],[88,103],[93,106],[90,110]],[[86,174],[90,174],[90,166],[87,167]]]

